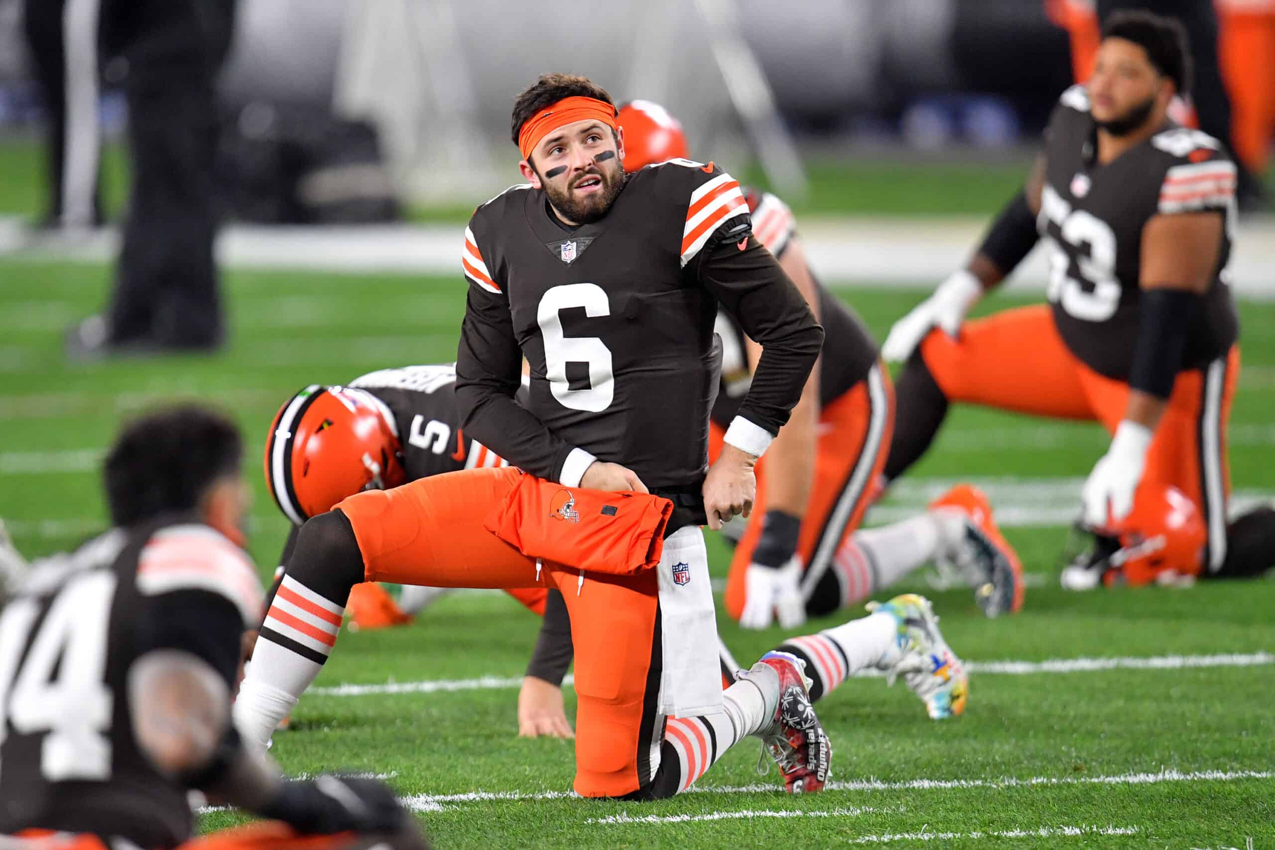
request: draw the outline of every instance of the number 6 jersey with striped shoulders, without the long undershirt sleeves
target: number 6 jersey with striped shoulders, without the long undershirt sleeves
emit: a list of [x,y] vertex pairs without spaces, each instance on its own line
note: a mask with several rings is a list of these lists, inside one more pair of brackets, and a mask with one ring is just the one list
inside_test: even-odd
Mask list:
[[[750,232],[738,182],[686,159],[635,172],[602,219],[576,228],[530,186],[478,208],[465,231],[468,310],[492,328],[511,321],[530,363],[529,408],[555,435],[553,452],[581,447],[650,488],[703,479],[720,343],[700,261],[734,242],[755,247]],[[515,353],[484,338],[486,326],[467,320],[458,372],[465,352],[514,368],[504,361]],[[542,478],[570,465],[547,457],[537,469],[501,454]]]

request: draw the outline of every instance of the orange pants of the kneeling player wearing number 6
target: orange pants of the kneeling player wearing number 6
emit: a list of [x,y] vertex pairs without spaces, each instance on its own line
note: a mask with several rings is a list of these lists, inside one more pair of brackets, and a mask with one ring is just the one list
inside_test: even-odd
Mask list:
[[[557,587],[575,645],[575,790],[622,796],[639,790],[649,765],[657,693],[648,692],[658,645],[659,585],[654,570],[629,576],[537,566],[483,528],[521,473],[468,469],[433,475],[340,502],[363,554],[366,581],[432,587]],[[659,689],[659,677],[653,677]],[[657,739],[658,740],[658,739]]]

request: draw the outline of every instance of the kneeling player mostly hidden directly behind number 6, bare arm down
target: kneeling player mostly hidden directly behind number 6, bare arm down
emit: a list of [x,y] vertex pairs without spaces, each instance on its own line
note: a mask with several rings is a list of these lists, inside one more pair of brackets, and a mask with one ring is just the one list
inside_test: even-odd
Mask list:
[[[659,104],[620,110],[625,169],[687,157],[681,125]],[[725,610],[746,628],[793,628],[807,616],[849,608],[924,563],[959,570],[989,617],[1023,604],[1019,557],[997,530],[986,497],[956,487],[931,510],[885,528],[859,529],[876,498],[894,428],[894,387],[858,316],[813,277],[788,206],[745,191],[754,234],[775,257],[824,325],[824,348],[801,401],[757,464],[754,515],[734,548]],[[709,457],[752,384],[762,349],[727,310],[722,381],[713,405]]]

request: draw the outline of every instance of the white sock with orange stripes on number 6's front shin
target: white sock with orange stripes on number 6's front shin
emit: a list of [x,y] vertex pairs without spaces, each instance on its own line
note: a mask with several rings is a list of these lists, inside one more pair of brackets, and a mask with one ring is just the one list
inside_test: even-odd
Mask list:
[[284,575],[235,700],[240,731],[266,744],[337,645],[343,605]]

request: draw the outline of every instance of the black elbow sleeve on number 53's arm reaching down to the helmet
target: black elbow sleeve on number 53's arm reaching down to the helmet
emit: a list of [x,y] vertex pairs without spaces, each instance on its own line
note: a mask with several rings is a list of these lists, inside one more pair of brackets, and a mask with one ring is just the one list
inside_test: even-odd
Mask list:
[[1145,289],[1139,303],[1137,343],[1128,385],[1158,399],[1168,399],[1182,367],[1187,330],[1204,298],[1184,289]]

